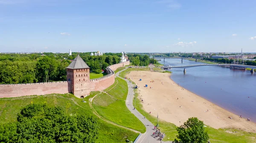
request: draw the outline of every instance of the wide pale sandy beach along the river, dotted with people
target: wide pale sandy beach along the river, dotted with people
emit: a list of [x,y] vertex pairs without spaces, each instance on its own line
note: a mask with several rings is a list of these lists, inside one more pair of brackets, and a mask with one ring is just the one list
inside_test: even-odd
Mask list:
[[[256,132],[256,124],[246,121],[250,117],[239,118],[240,115],[235,115],[180,87],[169,76],[170,73],[150,71],[131,71],[127,75],[127,78],[138,85],[138,92],[141,100],[143,99],[142,104],[146,112],[151,112],[155,117],[158,112],[160,120],[174,123],[176,126],[180,126],[188,118],[197,117],[204,121],[205,125],[215,129],[236,128]],[[152,79],[154,82],[150,82]],[[145,84],[148,87],[144,87]]]

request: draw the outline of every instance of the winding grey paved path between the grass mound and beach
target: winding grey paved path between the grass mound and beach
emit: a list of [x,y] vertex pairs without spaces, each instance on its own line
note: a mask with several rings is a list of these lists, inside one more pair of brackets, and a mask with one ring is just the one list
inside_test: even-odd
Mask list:
[[[124,70],[126,70],[125,68]],[[122,72],[123,70],[119,71],[116,73],[115,76],[119,77],[119,73]],[[121,78],[121,77],[119,77]],[[122,78],[121,78],[122,79]],[[139,111],[136,109],[134,110],[134,106],[132,104],[133,99],[134,99],[134,89],[132,88],[132,84],[128,79],[125,79],[125,81],[128,84],[128,95],[125,101],[126,107],[145,125],[146,127],[146,132],[143,133],[140,138],[137,140],[136,143],[172,143],[172,142],[163,142],[160,140],[156,140],[154,137],[151,137],[152,133],[154,132],[154,125],[148,121],[148,119],[144,119],[144,116],[140,114]]]

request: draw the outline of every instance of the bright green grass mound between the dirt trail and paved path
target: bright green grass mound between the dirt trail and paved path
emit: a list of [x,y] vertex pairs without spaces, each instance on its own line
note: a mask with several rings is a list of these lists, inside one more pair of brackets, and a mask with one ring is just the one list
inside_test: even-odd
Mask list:
[[[118,84],[116,84],[118,82]],[[116,85],[116,86],[115,86]],[[115,87],[114,87],[115,86]],[[111,89],[113,88],[113,89]],[[93,107],[99,115],[109,121],[117,123],[139,132],[145,132],[145,126],[126,107],[125,99],[128,94],[128,86],[125,80],[116,78],[115,83],[93,99]]]

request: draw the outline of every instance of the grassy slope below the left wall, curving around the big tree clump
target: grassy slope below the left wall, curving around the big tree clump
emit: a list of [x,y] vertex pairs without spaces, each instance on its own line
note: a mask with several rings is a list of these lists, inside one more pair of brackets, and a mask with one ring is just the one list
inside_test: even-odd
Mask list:
[[[0,98],[0,124],[17,121],[16,116],[17,113],[20,112],[20,108],[31,103],[47,103],[50,107],[59,106],[65,109],[68,114],[83,112],[87,115],[93,115],[92,109],[89,106],[89,98],[98,93],[99,92],[91,92],[91,95],[84,98],[84,101],[87,101],[87,103],[83,103],[82,99],[76,98],[73,94],[50,94],[42,96],[23,96],[18,98]],[[79,106],[75,104],[74,101],[79,104]],[[138,133],[134,133],[130,130],[122,129],[106,123],[101,119],[98,119],[98,123],[100,129],[99,139],[96,143],[124,143],[126,139],[135,140],[139,135]]]

